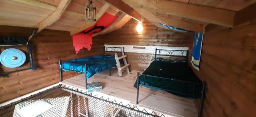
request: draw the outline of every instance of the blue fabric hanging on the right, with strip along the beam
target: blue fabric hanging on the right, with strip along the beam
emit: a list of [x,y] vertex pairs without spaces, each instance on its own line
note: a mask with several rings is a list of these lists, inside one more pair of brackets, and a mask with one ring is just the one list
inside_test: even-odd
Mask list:
[[[166,25],[163,23],[159,23],[159,24],[168,28],[169,30],[174,30],[179,32],[193,32],[193,31],[185,30],[183,28],[175,27],[172,25]],[[199,71],[199,63],[200,63],[200,57],[201,57],[201,49],[203,44],[203,35],[204,35],[203,33],[194,32],[194,43],[193,43],[191,64],[198,71]]]

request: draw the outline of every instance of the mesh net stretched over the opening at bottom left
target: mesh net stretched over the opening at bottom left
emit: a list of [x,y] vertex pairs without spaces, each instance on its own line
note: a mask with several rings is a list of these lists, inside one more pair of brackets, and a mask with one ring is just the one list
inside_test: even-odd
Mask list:
[[[41,100],[47,102],[48,106],[35,104]],[[20,111],[25,107],[32,109]],[[157,116],[136,108],[58,86],[1,107],[0,116]]]

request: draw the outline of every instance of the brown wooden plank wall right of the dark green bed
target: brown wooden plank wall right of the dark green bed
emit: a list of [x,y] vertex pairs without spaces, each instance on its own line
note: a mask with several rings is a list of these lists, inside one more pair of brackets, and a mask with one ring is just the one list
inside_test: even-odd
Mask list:
[[194,70],[207,82],[203,116],[256,115],[255,29],[255,22],[206,26],[200,71]]

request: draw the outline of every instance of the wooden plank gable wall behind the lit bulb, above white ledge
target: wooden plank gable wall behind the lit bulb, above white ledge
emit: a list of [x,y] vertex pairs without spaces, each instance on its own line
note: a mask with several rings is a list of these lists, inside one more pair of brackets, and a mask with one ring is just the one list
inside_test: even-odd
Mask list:
[[104,35],[105,44],[112,45],[148,45],[188,47],[191,39],[189,33],[179,33],[156,27],[142,19],[143,32],[136,32],[138,22],[131,19],[122,28]]

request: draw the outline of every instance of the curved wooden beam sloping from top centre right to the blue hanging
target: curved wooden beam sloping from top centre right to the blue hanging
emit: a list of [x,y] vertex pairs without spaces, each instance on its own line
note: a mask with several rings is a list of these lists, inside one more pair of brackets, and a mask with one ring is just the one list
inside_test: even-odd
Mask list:
[[[130,0],[127,0],[130,1]],[[190,31],[195,31],[195,32],[203,32],[204,30],[204,26],[198,23],[192,23],[192,22],[187,22],[187,21],[182,21],[179,19],[171,19],[171,18],[164,18],[164,17],[158,17],[155,14],[151,13],[150,11],[143,9],[141,7],[137,7],[134,4],[128,4],[130,5],[133,9],[135,9],[137,12],[140,13],[141,16],[143,16],[144,18],[146,18],[148,21],[150,22],[154,22],[153,24],[156,23],[163,23],[163,24],[167,24],[167,25],[172,25],[172,26],[176,26],[176,27],[181,27],[184,28],[186,30],[190,30]],[[156,25],[159,27],[159,25]]]

